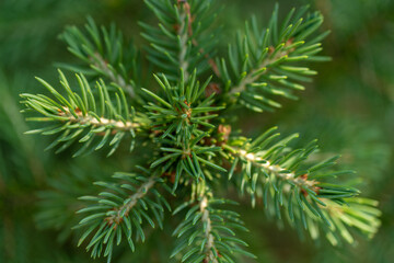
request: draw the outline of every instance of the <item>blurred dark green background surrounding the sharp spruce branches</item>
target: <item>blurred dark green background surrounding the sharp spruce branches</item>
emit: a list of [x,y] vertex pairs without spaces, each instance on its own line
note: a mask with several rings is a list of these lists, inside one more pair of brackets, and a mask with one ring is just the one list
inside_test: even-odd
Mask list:
[[[225,7],[221,20],[229,41],[250,15],[267,21],[275,3],[219,1]],[[274,114],[248,113],[242,128],[256,135],[279,125],[286,134],[299,132],[302,140],[318,138],[324,153],[341,153],[340,165],[357,170],[362,179],[355,183],[363,195],[380,201],[382,227],[370,242],[360,238],[357,247],[333,249],[325,242],[317,247],[309,240],[301,242],[291,229],[280,230],[267,220],[263,209],[244,209],[241,213],[252,230],[251,250],[258,262],[393,262],[394,1],[279,3],[282,15],[305,3],[324,13],[323,27],[332,31],[324,41],[324,55],[333,61],[317,65],[320,75],[299,94],[299,101],[286,102]],[[55,62],[74,59],[58,35],[67,24],[82,26],[86,15],[99,24],[115,22],[137,44],[143,44],[137,21],[154,20],[140,0],[0,0],[1,263],[93,262],[70,236],[78,203],[68,201],[89,194],[91,181],[130,167],[118,157],[103,162],[101,155],[80,160],[55,156],[44,151],[47,138],[23,135],[32,126],[19,113],[19,93],[40,91],[34,76],[57,81]],[[58,199],[57,206],[42,197]],[[54,215],[58,220],[50,221]],[[160,256],[169,253],[163,245],[169,237],[155,233],[153,243],[139,245],[136,255],[119,250],[116,262],[166,262]]]

